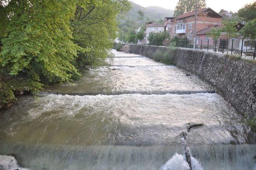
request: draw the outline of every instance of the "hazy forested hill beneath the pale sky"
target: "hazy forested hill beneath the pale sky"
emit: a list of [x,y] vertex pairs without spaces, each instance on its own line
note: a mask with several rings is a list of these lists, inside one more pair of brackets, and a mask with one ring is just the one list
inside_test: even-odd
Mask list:
[[165,8],[161,8],[159,6],[148,6],[144,8],[143,6],[140,6],[138,4],[135,4],[134,2],[131,2],[132,10],[130,10],[125,20],[129,19],[132,21],[138,21],[138,11],[141,10],[144,13],[144,22],[146,21],[158,21],[163,20],[164,17],[172,17],[174,14],[174,10],[168,10]]

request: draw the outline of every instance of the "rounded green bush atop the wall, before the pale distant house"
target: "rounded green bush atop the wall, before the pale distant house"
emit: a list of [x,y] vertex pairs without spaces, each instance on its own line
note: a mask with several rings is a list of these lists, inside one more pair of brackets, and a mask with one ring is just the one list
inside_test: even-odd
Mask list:
[[167,32],[159,32],[159,33],[151,32],[148,36],[149,44],[162,46],[163,41],[166,40],[166,38],[168,38],[169,36],[170,34],[168,34]]

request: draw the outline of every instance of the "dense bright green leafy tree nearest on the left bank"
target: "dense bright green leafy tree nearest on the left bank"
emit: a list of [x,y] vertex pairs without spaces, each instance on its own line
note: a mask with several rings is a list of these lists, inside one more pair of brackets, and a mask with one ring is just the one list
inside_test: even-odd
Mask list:
[[78,74],[71,63],[79,49],[71,40],[74,3],[51,0],[8,3],[5,10],[10,26],[8,36],[2,40],[1,64],[10,66],[10,75],[25,70],[27,74],[68,81],[71,72]]

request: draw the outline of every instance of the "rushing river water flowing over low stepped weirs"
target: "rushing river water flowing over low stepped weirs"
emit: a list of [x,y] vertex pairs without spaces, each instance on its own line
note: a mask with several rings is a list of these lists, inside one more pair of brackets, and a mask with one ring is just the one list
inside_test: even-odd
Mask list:
[[192,170],[256,170],[255,134],[212,86],[114,53],[110,66],[0,112],[0,170],[189,170],[191,124],[202,124],[187,133]]

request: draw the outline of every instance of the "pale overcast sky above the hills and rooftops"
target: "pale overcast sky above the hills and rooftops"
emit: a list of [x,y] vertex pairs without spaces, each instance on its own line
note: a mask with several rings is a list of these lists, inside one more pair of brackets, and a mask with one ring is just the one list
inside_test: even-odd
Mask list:
[[[175,9],[178,0],[131,0],[141,6],[160,6],[166,9]],[[252,3],[255,0],[206,0],[207,7],[212,8],[216,12],[221,9],[237,12],[244,4]]]

